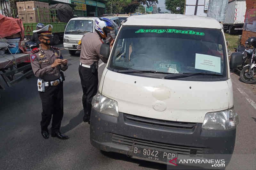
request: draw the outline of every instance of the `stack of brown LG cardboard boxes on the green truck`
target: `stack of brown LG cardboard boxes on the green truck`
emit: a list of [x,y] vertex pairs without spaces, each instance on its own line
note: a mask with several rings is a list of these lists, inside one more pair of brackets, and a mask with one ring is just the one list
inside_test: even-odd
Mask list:
[[50,22],[48,3],[38,1],[17,2],[17,8],[19,18],[22,19],[23,23]]

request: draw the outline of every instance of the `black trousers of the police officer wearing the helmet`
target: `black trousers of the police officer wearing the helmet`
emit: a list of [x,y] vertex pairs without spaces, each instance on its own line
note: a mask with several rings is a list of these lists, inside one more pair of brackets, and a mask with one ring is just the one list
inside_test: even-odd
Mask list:
[[78,72],[83,88],[82,101],[84,107],[84,115],[91,116],[92,97],[95,96],[98,91],[98,69],[95,69],[95,72],[92,73],[92,69],[79,65]]

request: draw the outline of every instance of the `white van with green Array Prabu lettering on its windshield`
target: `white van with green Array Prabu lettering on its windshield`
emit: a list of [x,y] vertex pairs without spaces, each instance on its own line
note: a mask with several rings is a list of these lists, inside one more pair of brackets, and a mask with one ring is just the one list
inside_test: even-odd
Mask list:
[[225,154],[227,166],[237,124],[218,21],[180,14],[127,18],[92,100],[93,146],[170,165]]

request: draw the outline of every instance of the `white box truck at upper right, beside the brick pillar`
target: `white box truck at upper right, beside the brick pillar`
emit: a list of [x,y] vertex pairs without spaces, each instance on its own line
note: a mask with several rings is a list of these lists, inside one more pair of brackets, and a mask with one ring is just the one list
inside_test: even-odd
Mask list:
[[231,0],[228,2],[226,18],[222,23],[224,32],[228,31],[229,34],[242,34],[245,10],[245,0]]

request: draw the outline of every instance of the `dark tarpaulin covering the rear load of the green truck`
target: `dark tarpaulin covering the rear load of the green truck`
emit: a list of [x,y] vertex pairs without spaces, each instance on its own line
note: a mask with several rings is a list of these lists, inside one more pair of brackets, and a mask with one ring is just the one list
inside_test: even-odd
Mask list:
[[[71,18],[74,18],[73,10],[68,4],[54,4],[50,5],[49,8],[56,10],[60,22],[68,23]],[[51,12],[54,13],[54,11]]]

